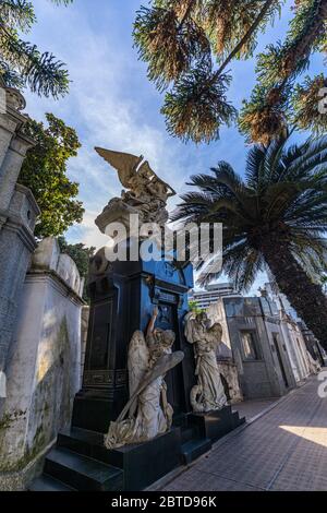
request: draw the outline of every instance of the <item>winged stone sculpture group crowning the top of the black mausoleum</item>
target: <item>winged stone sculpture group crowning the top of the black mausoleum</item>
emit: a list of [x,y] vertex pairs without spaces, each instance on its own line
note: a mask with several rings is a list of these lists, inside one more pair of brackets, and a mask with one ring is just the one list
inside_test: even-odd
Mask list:
[[141,224],[165,225],[168,220],[167,200],[175,192],[153,171],[148,162],[143,160],[142,155],[95,150],[118,171],[120,182],[126,189],[121,198],[113,198],[105,206],[96,219],[99,229],[104,232],[109,223],[117,220],[128,224],[130,214],[138,214]]

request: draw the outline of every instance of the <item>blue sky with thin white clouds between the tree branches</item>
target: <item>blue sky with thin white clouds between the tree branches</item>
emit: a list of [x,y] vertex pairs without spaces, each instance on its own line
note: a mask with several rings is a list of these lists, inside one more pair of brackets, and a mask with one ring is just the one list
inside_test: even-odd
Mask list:
[[[70,228],[71,242],[100,247],[107,239],[94,218],[121,186],[94,146],[144,155],[154,170],[178,193],[193,174],[204,172],[225,159],[243,172],[246,145],[237,129],[221,130],[210,145],[183,144],[171,138],[160,115],[162,96],[146,77],[146,65],[133,48],[132,25],[142,0],[75,0],[69,8],[34,0],[38,23],[28,38],[41,50],[50,50],[66,63],[72,81],[70,94],[58,102],[26,92],[27,112],[41,120],[47,111],[74,127],[82,142],[78,156],[69,164],[69,176],[80,183],[85,206],[81,225]],[[144,0],[144,4],[147,0]],[[287,2],[290,5],[292,1]],[[289,12],[261,38],[257,51],[282,37]],[[274,36],[272,36],[274,34]],[[313,59],[312,71],[320,71],[322,58]],[[233,83],[229,99],[241,106],[255,83],[254,61],[231,65]],[[171,200],[170,207],[177,199]]]

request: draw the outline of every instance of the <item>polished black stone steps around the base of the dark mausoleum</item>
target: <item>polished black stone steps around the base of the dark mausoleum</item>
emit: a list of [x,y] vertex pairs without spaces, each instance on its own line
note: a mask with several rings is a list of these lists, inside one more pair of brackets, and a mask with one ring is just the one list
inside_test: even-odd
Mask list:
[[43,476],[29,489],[142,490],[179,465],[189,465],[207,453],[216,440],[244,421],[230,406],[208,414],[180,414],[167,433],[145,444],[111,451],[104,445],[104,433],[72,427],[58,434]]

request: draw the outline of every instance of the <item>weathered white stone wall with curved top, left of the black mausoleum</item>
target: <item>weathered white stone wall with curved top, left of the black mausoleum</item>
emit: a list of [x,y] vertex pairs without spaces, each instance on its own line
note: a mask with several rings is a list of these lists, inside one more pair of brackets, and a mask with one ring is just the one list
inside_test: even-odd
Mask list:
[[80,389],[82,305],[75,263],[60,254],[56,239],[45,239],[26,275],[9,355],[0,425],[3,479],[23,472],[70,425]]

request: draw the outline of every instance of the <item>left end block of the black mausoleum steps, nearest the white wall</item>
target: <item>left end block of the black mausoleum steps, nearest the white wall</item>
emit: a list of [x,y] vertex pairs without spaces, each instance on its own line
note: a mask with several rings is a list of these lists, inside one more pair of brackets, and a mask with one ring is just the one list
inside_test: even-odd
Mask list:
[[47,455],[45,474],[80,491],[119,491],[123,487],[120,468],[60,446]]

